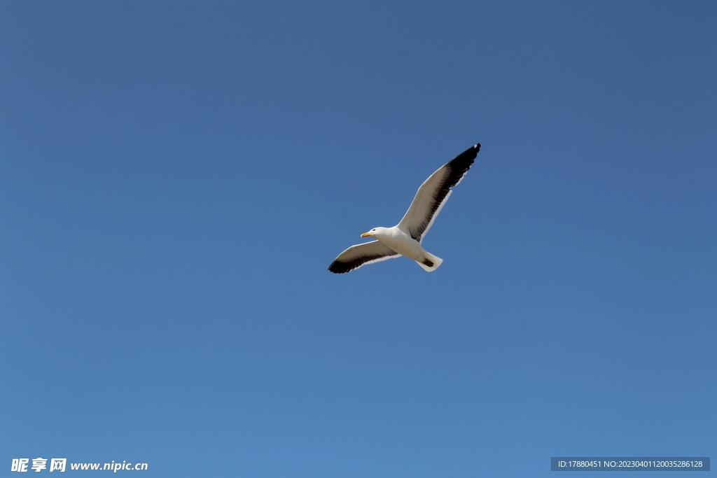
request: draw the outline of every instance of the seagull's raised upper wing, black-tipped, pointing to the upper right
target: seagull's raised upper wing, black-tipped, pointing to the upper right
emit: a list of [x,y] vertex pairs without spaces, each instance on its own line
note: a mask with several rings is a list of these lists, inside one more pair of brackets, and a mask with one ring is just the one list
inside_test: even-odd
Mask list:
[[470,165],[475,161],[475,156],[478,156],[478,150],[480,150],[480,143],[463,151],[429,176],[418,188],[411,207],[398,224],[399,228],[421,242],[448,200],[451,193],[450,188],[460,183]]

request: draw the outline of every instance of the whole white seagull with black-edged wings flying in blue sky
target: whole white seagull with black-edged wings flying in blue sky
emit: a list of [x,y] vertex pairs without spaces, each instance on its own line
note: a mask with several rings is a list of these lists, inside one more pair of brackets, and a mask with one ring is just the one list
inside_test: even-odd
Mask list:
[[450,188],[460,183],[478,156],[479,150],[480,143],[438,168],[438,171],[418,188],[411,207],[399,224],[393,227],[374,227],[371,231],[364,232],[361,237],[372,237],[376,240],[349,247],[338,254],[328,270],[343,274],[366,264],[401,256],[413,259],[428,272],[438,269],[443,259],[423,249],[421,241],[446,204],[452,193]]

